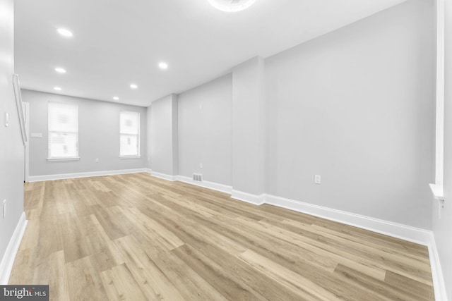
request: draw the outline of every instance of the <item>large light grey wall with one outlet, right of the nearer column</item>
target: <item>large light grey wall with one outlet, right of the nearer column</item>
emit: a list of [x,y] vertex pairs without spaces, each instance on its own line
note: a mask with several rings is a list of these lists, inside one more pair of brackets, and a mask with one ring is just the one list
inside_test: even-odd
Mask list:
[[271,195],[432,228],[432,17],[407,1],[266,59]]

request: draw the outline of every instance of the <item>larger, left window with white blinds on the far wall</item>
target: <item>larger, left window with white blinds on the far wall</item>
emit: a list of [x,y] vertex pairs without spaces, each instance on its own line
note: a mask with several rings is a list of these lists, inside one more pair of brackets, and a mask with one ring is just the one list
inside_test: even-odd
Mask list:
[[48,159],[79,159],[76,104],[49,102]]

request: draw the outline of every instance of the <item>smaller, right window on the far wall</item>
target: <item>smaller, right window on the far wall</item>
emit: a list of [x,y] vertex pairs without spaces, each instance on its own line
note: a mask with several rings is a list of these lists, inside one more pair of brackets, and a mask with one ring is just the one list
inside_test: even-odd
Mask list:
[[140,156],[140,113],[119,113],[119,156]]

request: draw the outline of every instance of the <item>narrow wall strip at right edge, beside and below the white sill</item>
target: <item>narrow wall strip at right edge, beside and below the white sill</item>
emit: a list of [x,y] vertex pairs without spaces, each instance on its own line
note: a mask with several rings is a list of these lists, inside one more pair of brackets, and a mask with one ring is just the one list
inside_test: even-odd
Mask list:
[[[448,300],[452,300],[452,4],[445,1],[444,208],[434,200],[433,231]],[[439,215],[441,214],[441,216]]]

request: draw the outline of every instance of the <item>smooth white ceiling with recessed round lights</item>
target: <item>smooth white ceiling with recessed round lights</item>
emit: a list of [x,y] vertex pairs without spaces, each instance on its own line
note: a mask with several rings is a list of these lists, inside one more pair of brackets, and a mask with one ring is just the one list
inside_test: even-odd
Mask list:
[[208,0],[16,0],[16,73],[28,90],[148,106],[403,1],[257,0],[224,13]]

